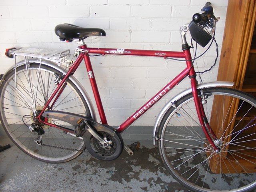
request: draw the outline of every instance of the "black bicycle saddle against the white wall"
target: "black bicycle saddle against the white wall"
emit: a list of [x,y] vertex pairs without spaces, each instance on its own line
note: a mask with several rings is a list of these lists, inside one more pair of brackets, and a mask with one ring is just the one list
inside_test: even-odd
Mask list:
[[82,28],[72,24],[59,24],[54,29],[55,34],[61,41],[73,41],[73,39],[83,40],[89,36],[106,36],[103,29]]

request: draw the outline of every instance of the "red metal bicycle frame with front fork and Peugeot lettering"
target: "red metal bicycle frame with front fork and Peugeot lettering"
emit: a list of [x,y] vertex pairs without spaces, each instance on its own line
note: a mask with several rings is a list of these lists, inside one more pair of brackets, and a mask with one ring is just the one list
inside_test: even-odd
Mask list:
[[[210,138],[210,135],[208,134],[208,132],[206,130],[206,126],[204,124],[204,120],[203,120],[203,116],[202,116],[202,114],[204,114],[204,112],[202,112],[202,106],[201,106],[202,104],[200,103],[200,99],[198,98],[198,93],[197,93],[197,89],[196,89],[196,85],[197,85],[196,73],[195,73],[194,67],[192,65],[192,58],[191,58],[189,48],[186,49],[186,50],[183,50],[182,52],[174,52],[174,51],[155,51],[155,50],[88,48],[86,45],[82,45],[82,46],[79,46],[77,48],[77,51],[80,53],[78,58],[76,59],[76,61],[72,65],[72,67],[69,69],[66,76],[62,79],[60,84],[58,84],[58,87],[56,88],[56,90],[54,91],[52,96],[49,98],[48,102],[46,103],[46,105],[42,109],[39,116],[37,117],[39,121],[42,122],[42,120],[40,120],[40,116],[42,116],[42,113],[46,110],[46,108],[50,109],[49,106],[54,105],[54,104],[50,105],[50,102],[52,102],[52,100],[54,98],[55,98],[54,99],[54,101],[55,101],[56,98],[58,98],[58,96],[60,96],[61,91],[62,91],[62,87],[65,86],[66,79],[70,75],[74,74],[74,72],[76,71],[76,69],[78,68],[78,66],[82,62],[82,60],[84,59],[85,64],[86,64],[86,69],[87,69],[87,72],[88,72],[88,76],[89,76],[89,79],[90,79],[90,84],[92,86],[92,91],[93,91],[93,94],[94,94],[94,98],[96,100],[96,105],[97,105],[97,108],[98,108],[98,112],[100,114],[101,123],[102,124],[108,124],[107,120],[106,120],[104,108],[103,108],[103,105],[102,105],[102,101],[100,99],[98,86],[96,84],[96,78],[94,77],[94,72],[93,72],[93,69],[92,69],[92,64],[90,62],[89,54],[102,54],[102,55],[114,54],[114,55],[150,56],[150,57],[162,57],[162,58],[167,58],[167,57],[184,58],[184,60],[186,60],[186,68],[182,72],[180,72],[180,74],[178,74],[166,86],[164,86],[164,88],[162,88],[156,95],[154,95],[141,108],[139,108],[134,114],[132,114],[126,121],[124,121],[118,127],[117,130],[120,133],[123,132],[134,121],[136,121],[138,118],[140,118],[140,116],[142,116],[142,114],[144,114],[147,110],[149,110],[152,106],[154,106],[154,104],[156,104],[166,93],[168,93],[172,88],[174,88],[174,86],[176,86],[181,80],[183,80],[186,76],[189,76],[190,79],[191,79],[192,94],[193,94],[195,105],[196,105],[196,111],[197,111],[198,118],[199,118],[199,121],[201,123],[202,129],[203,129],[206,137],[208,138],[208,140],[210,141],[210,143],[214,147],[214,150],[218,150],[218,148],[215,146],[212,139]],[[48,122],[43,122],[43,123],[47,124],[49,126],[57,127],[56,125],[48,123]],[[61,128],[61,127],[57,127],[57,128]],[[208,124],[207,124],[207,128],[210,130],[210,132],[212,132],[212,130],[211,130],[211,128]],[[73,133],[73,130],[67,130],[66,128],[65,128],[65,130],[68,131],[68,132]]]

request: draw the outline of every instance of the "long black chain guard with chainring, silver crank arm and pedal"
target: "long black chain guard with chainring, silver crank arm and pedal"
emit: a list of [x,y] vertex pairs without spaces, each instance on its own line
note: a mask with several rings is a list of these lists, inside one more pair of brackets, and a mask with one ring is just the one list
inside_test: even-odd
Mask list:
[[86,116],[78,114],[45,111],[43,117],[58,119],[74,126],[73,136],[81,137],[88,152],[100,160],[114,160],[120,156],[124,142],[119,132],[111,126],[94,122]]

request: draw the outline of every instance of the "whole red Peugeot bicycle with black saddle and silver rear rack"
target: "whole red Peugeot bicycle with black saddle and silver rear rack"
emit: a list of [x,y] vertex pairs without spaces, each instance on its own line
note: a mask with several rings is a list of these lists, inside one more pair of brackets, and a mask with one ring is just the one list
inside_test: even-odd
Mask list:
[[[248,114],[256,110],[256,98],[230,88],[232,82],[198,84],[194,70],[196,56],[192,58],[191,46],[186,41],[186,32],[190,31],[200,46],[213,42],[217,21],[211,4],[206,3],[190,24],[180,28],[182,51],[178,52],[88,48],[84,39],[105,36],[105,31],[72,24],[56,26],[55,33],[61,41],[80,44],[74,62],[66,58],[70,50],[58,53],[32,48],[7,49],[6,56],[14,58],[15,64],[2,75],[0,83],[0,120],[4,130],[18,148],[44,162],[67,162],[86,149],[100,160],[114,160],[123,149],[133,153],[124,145],[121,133],[188,76],[191,88],[172,98],[154,125],[153,143],[158,143],[166,169],[194,191],[255,189],[256,156],[255,148],[250,145],[255,133],[246,133],[255,125],[255,116],[248,120]],[[107,54],[176,58],[186,62],[186,68],[115,129],[107,123],[90,62],[90,56]],[[16,63],[17,56],[25,59]],[[82,60],[101,123],[96,122],[86,90],[73,76]],[[217,103],[221,107],[217,108]],[[238,106],[234,114],[233,104]],[[240,119],[236,118],[238,113]],[[245,124],[243,120],[247,120]]]

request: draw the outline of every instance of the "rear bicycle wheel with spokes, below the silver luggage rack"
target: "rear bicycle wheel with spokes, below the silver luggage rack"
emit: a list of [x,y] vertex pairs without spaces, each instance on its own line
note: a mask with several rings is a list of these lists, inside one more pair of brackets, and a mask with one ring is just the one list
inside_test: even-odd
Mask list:
[[[31,97],[36,97],[36,111],[39,113],[56,89],[57,85],[54,83],[56,75],[62,72],[45,64],[41,64],[40,67],[39,63],[29,63],[27,66],[28,71],[26,71],[25,64],[16,68],[17,88],[15,88],[14,70],[7,72],[2,79],[0,86],[2,126],[12,142],[33,158],[49,163],[70,161],[85,149],[81,138],[71,136],[58,128],[43,125],[42,145],[38,145],[34,142],[39,138],[38,134],[31,132],[28,128],[34,122],[32,103],[29,102],[32,101]],[[37,82],[39,82],[38,86]],[[72,112],[90,118],[90,110],[81,92],[70,79],[67,79],[66,83],[67,86],[56,100],[52,110]],[[36,88],[38,88],[37,91]],[[74,129],[67,122],[51,118],[47,121]]]

